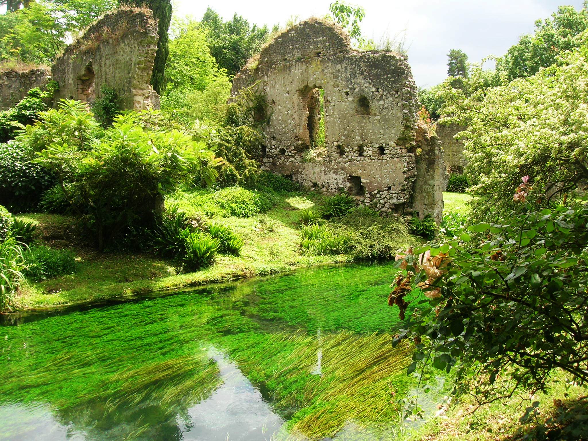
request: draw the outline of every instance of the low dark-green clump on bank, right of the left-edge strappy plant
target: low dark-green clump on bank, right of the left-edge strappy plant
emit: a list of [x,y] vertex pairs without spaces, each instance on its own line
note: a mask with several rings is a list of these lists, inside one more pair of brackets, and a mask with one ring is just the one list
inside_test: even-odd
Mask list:
[[26,268],[23,273],[29,280],[45,280],[76,271],[75,254],[48,246],[34,246],[23,253]]

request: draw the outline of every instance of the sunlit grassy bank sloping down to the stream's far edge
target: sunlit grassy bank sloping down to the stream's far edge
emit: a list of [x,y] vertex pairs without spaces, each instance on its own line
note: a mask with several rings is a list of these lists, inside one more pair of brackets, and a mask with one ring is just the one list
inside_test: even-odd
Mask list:
[[[19,292],[16,305],[19,309],[54,308],[314,265],[352,262],[352,255],[311,255],[300,248],[300,212],[317,208],[322,201],[321,195],[293,192],[278,196],[275,206],[260,215],[215,217],[243,238],[242,252],[239,256],[218,255],[209,268],[189,273],[182,273],[177,262],[152,253],[98,253],[75,218],[48,213],[23,215],[21,218],[37,223],[41,231],[39,243],[71,250],[78,265],[75,273],[26,284]],[[191,209],[189,195],[173,202],[185,211]],[[406,233],[400,234],[398,240],[399,248],[413,242]]]

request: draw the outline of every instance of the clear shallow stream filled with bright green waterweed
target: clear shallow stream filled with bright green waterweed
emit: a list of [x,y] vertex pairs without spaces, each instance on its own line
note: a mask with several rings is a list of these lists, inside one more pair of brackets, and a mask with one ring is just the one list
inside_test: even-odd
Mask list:
[[0,440],[382,439],[390,397],[410,387],[390,346],[394,271],[306,269],[5,318]]

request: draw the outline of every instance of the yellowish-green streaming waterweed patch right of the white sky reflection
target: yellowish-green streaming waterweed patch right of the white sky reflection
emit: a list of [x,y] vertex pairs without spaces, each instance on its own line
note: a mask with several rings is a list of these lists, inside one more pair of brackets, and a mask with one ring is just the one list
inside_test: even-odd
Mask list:
[[[392,348],[390,335],[346,331],[320,339],[308,333],[266,336],[265,345],[235,358],[243,372],[265,383],[276,408],[300,409],[289,429],[310,439],[333,436],[348,420],[369,425],[393,419],[395,396],[407,391],[409,360],[409,348]],[[320,375],[314,373],[318,363]]]

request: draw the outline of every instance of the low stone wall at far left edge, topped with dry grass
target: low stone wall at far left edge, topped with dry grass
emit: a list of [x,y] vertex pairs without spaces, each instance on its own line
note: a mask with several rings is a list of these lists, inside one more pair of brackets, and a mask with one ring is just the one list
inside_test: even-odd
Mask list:
[[27,70],[0,67],[0,110],[14,106],[30,89],[45,86],[49,80],[51,72],[44,67]]

